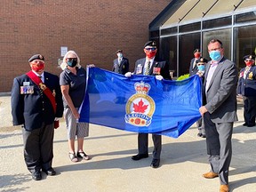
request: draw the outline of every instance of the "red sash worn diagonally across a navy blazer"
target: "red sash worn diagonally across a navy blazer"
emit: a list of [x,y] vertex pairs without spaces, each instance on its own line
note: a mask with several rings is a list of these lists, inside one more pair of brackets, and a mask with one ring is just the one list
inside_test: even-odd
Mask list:
[[42,80],[36,76],[36,74],[33,71],[29,71],[26,74],[39,88],[44,92],[44,94],[47,96],[47,98],[51,101],[52,103],[52,108],[54,111],[54,114],[56,113],[56,102],[55,102],[55,97],[53,96],[51,90],[46,87],[46,85],[42,82]]

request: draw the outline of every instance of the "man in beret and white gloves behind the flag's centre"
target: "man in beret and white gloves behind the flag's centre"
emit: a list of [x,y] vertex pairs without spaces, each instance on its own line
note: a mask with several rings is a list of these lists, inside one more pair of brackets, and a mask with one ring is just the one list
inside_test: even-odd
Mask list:
[[[146,57],[135,62],[135,68],[133,73],[127,72],[124,76],[129,77],[132,74],[144,75],[144,76],[156,76],[157,80],[171,79],[169,73],[169,67],[165,61],[156,61],[156,42],[148,41],[144,44],[144,52]],[[160,164],[160,155],[162,150],[162,136],[152,134],[152,140],[154,143],[153,160],[150,164],[151,167],[157,168]],[[140,132],[138,134],[138,148],[139,153],[136,156],[132,156],[132,160],[138,161],[142,158],[148,157],[148,133]]]

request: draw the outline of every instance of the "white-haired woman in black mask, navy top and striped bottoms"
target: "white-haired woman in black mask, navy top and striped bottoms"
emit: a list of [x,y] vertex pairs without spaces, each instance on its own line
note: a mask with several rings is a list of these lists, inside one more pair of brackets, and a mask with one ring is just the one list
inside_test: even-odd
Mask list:
[[[78,123],[80,117],[78,109],[84,100],[86,87],[86,71],[80,65],[80,59],[76,52],[68,51],[60,65],[60,89],[63,94],[64,118],[68,129],[68,156],[72,162],[78,162],[78,158],[89,160],[84,153],[84,137],[89,135],[89,124]],[[75,140],[77,137],[77,151]]]

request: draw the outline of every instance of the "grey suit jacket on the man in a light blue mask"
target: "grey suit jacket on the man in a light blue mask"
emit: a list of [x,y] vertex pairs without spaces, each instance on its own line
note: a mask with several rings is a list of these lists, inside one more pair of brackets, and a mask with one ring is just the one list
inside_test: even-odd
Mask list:
[[223,57],[214,71],[208,90],[205,91],[210,63],[208,62],[205,68],[204,106],[210,113],[213,123],[237,121],[236,84],[238,72],[236,64]]

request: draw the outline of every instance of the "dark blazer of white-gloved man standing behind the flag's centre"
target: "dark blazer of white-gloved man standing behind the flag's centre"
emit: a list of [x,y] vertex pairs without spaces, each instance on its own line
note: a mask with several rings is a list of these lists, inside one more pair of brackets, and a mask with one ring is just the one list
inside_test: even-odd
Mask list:
[[[145,66],[146,58],[136,60],[135,62],[135,68],[133,71],[133,74],[136,75],[143,75],[143,70]],[[149,76],[154,76],[153,74],[153,68],[161,68],[160,69],[160,75],[164,77],[164,79],[172,79],[169,72],[169,66],[166,63],[166,61],[153,61],[153,64],[151,65],[151,68],[149,69]]]

